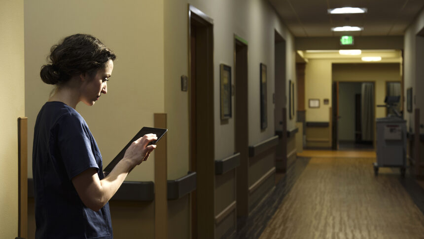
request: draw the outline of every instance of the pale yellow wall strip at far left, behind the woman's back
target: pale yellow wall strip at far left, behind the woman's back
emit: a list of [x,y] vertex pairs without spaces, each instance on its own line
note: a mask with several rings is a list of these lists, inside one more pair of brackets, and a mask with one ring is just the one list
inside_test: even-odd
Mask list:
[[0,234],[18,236],[18,117],[25,117],[24,2],[0,1]]

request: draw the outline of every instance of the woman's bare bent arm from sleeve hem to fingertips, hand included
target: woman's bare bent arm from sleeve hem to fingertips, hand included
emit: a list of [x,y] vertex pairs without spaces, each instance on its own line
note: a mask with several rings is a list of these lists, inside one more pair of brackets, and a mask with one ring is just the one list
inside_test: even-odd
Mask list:
[[146,134],[134,141],[112,171],[102,180],[95,168],[89,168],[72,178],[73,186],[85,206],[98,211],[118,191],[128,172],[147,160],[156,145],[147,144],[156,140],[155,134]]

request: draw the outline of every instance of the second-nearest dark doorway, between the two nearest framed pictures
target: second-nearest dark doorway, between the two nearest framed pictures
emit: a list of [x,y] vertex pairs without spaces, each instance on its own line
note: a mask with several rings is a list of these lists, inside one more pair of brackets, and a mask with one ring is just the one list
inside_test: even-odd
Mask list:
[[249,160],[248,160],[248,92],[247,92],[247,41],[234,36],[235,66],[235,150],[240,153],[240,166],[236,170],[237,217],[247,218],[249,213]]

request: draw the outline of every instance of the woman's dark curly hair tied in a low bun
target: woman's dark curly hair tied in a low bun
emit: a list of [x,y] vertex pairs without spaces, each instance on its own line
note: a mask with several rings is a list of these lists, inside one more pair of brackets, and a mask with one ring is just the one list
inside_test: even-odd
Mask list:
[[41,66],[40,77],[47,84],[61,84],[73,76],[106,68],[115,53],[99,39],[87,34],[75,34],[53,45],[47,57],[49,64]]

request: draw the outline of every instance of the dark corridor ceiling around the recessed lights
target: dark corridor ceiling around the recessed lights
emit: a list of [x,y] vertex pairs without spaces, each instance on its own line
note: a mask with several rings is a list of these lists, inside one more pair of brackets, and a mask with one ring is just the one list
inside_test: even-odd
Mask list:
[[[295,37],[401,36],[424,7],[424,0],[269,0]],[[366,7],[364,14],[328,14],[328,8]],[[332,32],[358,26],[360,32]]]

